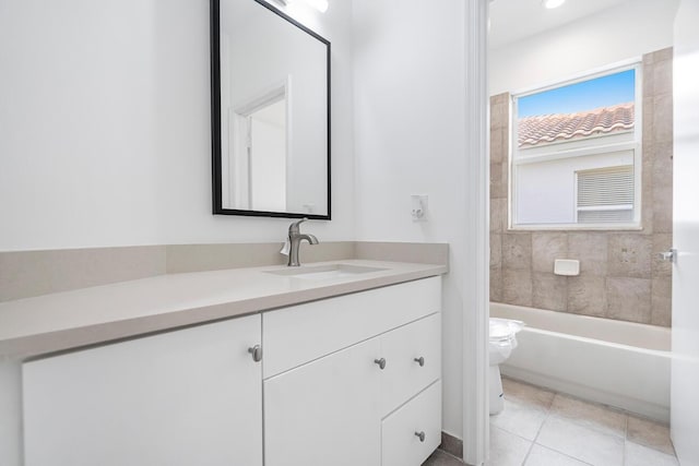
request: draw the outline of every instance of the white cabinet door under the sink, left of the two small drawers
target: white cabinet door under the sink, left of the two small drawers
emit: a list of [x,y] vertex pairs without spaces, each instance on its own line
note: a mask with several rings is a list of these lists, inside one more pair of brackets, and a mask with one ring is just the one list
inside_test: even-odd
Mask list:
[[264,381],[265,466],[379,466],[379,342]]

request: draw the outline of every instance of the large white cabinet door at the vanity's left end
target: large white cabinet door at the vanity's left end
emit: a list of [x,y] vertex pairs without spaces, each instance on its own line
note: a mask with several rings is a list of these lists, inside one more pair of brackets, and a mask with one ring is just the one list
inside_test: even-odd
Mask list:
[[23,366],[25,465],[262,465],[252,315]]

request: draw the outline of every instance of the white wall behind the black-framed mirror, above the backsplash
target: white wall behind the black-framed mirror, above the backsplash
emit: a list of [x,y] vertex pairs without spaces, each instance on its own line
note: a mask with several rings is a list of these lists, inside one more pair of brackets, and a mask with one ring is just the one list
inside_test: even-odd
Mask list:
[[[354,237],[351,3],[298,17],[332,41],[332,222]],[[0,0],[0,251],[282,241],[213,216],[209,0]]]

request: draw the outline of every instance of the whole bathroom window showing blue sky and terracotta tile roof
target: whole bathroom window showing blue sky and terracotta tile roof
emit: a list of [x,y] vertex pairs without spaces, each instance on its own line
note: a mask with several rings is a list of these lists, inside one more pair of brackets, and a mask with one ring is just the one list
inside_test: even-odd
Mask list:
[[638,65],[512,96],[512,228],[640,226]]

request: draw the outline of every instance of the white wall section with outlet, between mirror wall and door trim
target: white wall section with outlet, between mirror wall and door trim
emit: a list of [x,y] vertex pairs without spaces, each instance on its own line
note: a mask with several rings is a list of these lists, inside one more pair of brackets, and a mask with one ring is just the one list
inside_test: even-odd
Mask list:
[[[462,434],[464,10],[452,0],[354,0],[358,240],[449,242],[443,429]],[[411,194],[429,195],[427,223]]]

